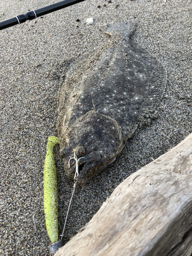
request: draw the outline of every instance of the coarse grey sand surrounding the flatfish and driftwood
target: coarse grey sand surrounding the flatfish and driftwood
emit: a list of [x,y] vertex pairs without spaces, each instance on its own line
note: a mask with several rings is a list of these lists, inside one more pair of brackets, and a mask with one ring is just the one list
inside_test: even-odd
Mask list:
[[[0,22],[53,3],[0,0]],[[36,216],[37,230],[32,220],[34,212],[44,207],[47,139],[57,136],[59,90],[66,63],[72,65],[78,56],[109,40],[99,25],[117,20],[135,23],[133,43],[162,63],[167,84],[155,111],[146,116],[116,161],[76,190],[63,242],[90,221],[126,177],[192,132],[191,14],[189,0],[87,0],[0,31],[1,255],[50,255],[44,214]],[[90,17],[94,23],[87,25]],[[73,181],[64,173],[59,146],[54,153],[61,234]]]

